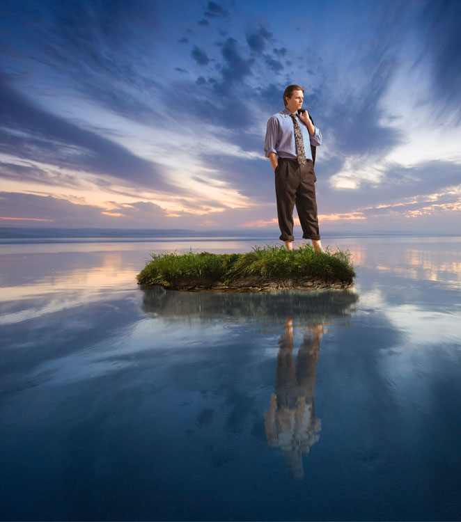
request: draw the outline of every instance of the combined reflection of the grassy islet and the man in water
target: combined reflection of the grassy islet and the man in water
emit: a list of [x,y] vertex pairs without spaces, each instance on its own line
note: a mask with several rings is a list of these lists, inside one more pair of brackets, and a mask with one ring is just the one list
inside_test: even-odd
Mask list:
[[[233,317],[279,325],[288,315],[279,338],[275,391],[264,413],[267,443],[280,448],[296,480],[304,477],[303,454],[319,440],[320,419],[315,417],[314,388],[324,324],[348,318],[358,296],[352,290],[286,291],[260,294],[174,292],[162,287],[143,289],[143,311],[167,321]],[[304,330],[296,356],[293,322]]]

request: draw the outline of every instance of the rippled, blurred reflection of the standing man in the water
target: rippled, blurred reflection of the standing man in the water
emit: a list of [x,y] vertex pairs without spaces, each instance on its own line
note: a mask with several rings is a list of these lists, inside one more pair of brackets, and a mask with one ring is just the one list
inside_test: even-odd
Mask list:
[[319,438],[320,419],[315,418],[314,386],[322,324],[308,326],[302,346],[293,360],[293,319],[287,319],[279,340],[275,393],[265,412],[265,431],[270,446],[278,446],[295,478],[304,477],[302,454]]

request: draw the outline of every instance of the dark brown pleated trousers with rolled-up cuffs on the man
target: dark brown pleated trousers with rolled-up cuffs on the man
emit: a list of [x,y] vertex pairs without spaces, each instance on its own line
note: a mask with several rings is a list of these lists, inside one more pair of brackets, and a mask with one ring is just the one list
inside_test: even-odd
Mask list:
[[293,241],[293,207],[296,205],[304,239],[320,239],[315,202],[315,181],[313,163],[300,166],[296,159],[279,157],[275,169],[275,193],[277,216],[282,241]]

